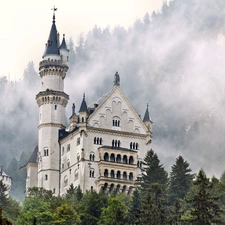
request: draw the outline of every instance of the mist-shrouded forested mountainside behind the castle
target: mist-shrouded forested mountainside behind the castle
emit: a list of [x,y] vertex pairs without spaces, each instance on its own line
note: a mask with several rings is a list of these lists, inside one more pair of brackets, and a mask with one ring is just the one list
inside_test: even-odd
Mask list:
[[[88,104],[107,93],[118,71],[121,88],[140,115],[149,103],[152,148],[166,170],[182,155],[195,173],[203,168],[220,177],[225,170],[224,20],[224,0],[173,0],[129,29],[96,25],[78,39],[71,37],[68,117],[84,91]],[[13,178],[11,195],[19,201],[25,196],[24,166],[38,137],[36,64],[28,63],[22,80],[0,78],[0,164]]]

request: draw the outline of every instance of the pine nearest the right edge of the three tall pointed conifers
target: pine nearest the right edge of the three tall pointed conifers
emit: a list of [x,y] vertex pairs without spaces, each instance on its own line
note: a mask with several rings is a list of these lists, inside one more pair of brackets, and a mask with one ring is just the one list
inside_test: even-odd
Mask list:
[[203,170],[199,171],[197,179],[193,183],[197,192],[191,199],[187,200],[192,206],[189,218],[191,224],[210,225],[213,222],[218,222],[221,213],[218,197],[213,196],[213,185]]

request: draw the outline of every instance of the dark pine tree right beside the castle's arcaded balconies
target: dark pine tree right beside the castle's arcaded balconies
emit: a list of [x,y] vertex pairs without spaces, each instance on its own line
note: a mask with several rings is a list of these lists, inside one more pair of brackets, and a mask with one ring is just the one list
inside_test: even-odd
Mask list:
[[163,190],[165,190],[168,181],[168,174],[163,165],[160,164],[157,154],[154,153],[152,149],[147,152],[143,165],[144,168],[141,180],[142,193],[145,194],[147,189],[153,183],[160,184]]

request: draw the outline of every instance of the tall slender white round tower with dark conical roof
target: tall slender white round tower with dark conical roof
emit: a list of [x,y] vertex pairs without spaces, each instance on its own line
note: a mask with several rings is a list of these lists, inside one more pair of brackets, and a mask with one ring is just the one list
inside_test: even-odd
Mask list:
[[59,45],[55,11],[54,7],[51,31],[42,61],[39,64],[41,91],[36,95],[36,101],[39,106],[38,187],[59,194],[58,131],[65,128],[65,107],[69,100],[69,96],[64,92],[69,50],[64,35],[61,45]]

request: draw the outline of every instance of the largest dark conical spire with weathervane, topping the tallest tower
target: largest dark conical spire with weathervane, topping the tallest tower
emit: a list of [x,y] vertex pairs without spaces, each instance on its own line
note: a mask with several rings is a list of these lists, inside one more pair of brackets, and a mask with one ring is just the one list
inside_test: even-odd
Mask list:
[[52,27],[48,37],[48,41],[46,43],[46,49],[43,57],[46,55],[59,55],[58,32],[55,25],[55,11],[57,10],[57,8],[55,8],[54,6],[52,10],[53,10]]

